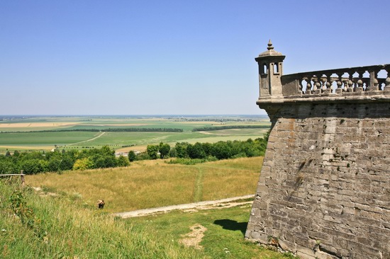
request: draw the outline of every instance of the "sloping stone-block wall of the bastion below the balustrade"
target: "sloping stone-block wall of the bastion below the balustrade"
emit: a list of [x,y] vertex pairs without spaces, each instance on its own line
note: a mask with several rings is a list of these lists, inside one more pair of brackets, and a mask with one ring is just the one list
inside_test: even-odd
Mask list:
[[284,105],[278,117],[247,238],[301,258],[390,258],[390,104]]

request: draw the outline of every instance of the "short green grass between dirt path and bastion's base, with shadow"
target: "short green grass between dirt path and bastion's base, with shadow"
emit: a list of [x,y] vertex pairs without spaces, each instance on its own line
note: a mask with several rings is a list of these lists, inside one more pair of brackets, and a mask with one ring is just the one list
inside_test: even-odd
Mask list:
[[191,227],[205,227],[206,231],[199,245],[200,251],[208,258],[292,258],[245,241],[250,209],[251,205],[198,212],[177,210],[123,221],[126,221],[128,226],[155,233],[158,238],[168,238],[174,243],[181,243],[182,239],[191,233]]

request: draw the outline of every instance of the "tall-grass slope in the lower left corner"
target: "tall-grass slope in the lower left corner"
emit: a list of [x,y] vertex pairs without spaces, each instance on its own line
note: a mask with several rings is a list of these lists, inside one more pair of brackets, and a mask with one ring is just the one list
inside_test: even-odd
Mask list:
[[205,258],[72,197],[18,189],[0,180],[0,258]]

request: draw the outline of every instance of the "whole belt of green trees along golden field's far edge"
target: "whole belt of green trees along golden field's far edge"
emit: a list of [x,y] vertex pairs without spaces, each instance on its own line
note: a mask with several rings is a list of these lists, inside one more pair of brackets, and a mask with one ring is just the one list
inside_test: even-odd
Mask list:
[[67,170],[87,170],[95,168],[113,168],[129,166],[130,162],[147,159],[177,158],[169,163],[193,164],[221,159],[239,157],[264,156],[267,149],[268,134],[262,138],[247,139],[246,141],[227,141],[216,143],[189,144],[178,142],[171,147],[169,144],[147,145],[145,152],[135,154],[130,151],[128,156],[116,157],[115,151],[108,146],[101,149],[74,149],[48,152],[19,152],[13,154],[7,151],[0,155],[0,174],[18,173],[23,170],[26,174],[59,172]]

